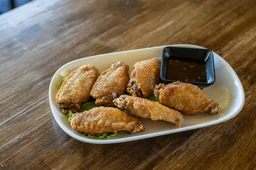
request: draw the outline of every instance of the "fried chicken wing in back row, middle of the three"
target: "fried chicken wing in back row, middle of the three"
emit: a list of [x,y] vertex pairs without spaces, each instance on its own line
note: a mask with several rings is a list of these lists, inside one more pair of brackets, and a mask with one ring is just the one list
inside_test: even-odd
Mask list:
[[128,71],[128,65],[117,62],[100,74],[90,93],[98,106],[114,106],[113,99],[125,93]]

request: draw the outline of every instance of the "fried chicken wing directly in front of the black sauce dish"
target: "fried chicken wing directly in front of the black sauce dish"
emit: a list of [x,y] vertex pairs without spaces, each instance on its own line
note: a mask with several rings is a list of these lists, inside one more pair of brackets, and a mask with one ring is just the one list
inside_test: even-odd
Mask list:
[[220,110],[218,103],[201,89],[189,83],[176,81],[169,85],[159,84],[154,94],[161,103],[186,115],[196,115],[199,112],[213,115]]

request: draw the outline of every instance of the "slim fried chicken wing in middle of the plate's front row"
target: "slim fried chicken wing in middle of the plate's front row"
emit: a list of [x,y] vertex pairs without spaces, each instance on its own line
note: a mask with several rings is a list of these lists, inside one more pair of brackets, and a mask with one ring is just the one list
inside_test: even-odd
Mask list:
[[121,110],[138,118],[173,122],[177,127],[180,127],[183,121],[183,116],[179,111],[141,97],[122,95],[113,103]]

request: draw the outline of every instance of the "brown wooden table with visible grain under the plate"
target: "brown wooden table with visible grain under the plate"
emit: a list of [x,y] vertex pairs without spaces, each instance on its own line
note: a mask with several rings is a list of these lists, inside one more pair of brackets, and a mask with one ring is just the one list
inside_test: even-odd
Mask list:
[[[256,166],[256,1],[40,0],[0,15],[0,164],[6,169],[253,169]],[[113,145],[68,136],[48,89],[81,57],[188,43],[218,52],[245,92],[217,125]]]

